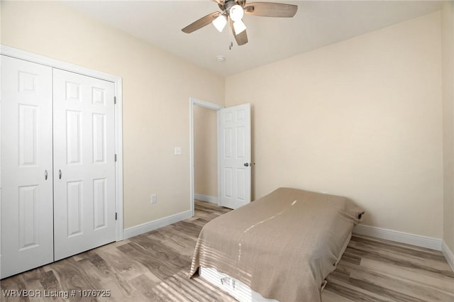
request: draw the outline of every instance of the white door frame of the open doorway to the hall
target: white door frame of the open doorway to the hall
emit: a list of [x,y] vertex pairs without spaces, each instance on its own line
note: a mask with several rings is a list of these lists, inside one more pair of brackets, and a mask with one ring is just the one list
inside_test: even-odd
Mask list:
[[[194,216],[194,106],[201,106],[209,108],[216,111],[216,125],[219,121],[219,110],[224,108],[224,106],[219,104],[210,103],[207,101],[201,101],[199,99],[190,97],[189,98],[189,198],[190,198],[190,208],[191,215]],[[217,133],[216,127],[216,133]],[[219,140],[217,139],[217,148],[219,150]],[[219,151],[218,151],[219,154]],[[218,205],[221,203],[221,184],[219,182],[219,161],[218,161]]]

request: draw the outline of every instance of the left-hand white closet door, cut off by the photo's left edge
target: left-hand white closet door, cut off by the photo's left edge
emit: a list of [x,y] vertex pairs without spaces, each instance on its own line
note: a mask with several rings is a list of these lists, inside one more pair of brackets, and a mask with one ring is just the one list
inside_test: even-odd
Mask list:
[[53,261],[52,68],[1,55],[1,278]]

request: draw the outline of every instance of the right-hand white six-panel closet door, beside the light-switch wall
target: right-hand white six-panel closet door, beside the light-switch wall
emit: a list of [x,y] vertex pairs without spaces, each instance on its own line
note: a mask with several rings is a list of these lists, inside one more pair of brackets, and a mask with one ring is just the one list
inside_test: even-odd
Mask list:
[[113,242],[114,83],[54,69],[55,261]]

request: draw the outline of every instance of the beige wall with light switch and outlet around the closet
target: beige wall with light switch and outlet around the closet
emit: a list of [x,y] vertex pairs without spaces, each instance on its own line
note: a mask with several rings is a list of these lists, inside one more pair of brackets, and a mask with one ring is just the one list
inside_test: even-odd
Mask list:
[[223,78],[56,2],[3,1],[1,34],[3,45],[123,78],[125,228],[189,210],[189,97],[223,104]]

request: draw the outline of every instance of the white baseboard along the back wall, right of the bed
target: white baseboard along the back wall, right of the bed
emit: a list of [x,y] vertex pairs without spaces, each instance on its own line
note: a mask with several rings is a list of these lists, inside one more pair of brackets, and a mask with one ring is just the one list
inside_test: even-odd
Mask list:
[[404,233],[397,230],[388,230],[386,228],[377,228],[370,225],[356,225],[355,228],[353,228],[353,233],[406,243],[407,245],[416,245],[417,247],[427,247],[428,249],[441,251],[442,240],[438,238]]

